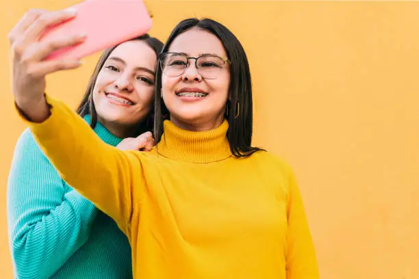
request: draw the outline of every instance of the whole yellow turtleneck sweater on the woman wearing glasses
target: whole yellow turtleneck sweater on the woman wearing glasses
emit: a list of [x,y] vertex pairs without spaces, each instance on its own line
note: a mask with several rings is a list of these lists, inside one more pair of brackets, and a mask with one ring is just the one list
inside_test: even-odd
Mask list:
[[166,121],[153,151],[121,151],[47,101],[51,116],[29,128],[66,182],[127,235],[134,278],[319,277],[292,171],[269,152],[233,157],[227,121],[205,132]]

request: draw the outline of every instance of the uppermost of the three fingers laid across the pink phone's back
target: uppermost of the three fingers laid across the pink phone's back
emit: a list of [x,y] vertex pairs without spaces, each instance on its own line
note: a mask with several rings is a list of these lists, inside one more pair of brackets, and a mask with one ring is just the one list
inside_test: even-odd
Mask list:
[[57,12],[49,12],[40,16],[25,32],[25,41],[32,42],[38,40],[47,27],[58,25],[64,21],[68,21],[76,16],[77,11],[73,8],[60,10]]

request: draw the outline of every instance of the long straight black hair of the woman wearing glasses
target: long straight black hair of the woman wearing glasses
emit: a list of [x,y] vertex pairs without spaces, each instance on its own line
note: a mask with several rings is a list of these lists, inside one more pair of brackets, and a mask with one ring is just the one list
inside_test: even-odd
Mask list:
[[[252,84],[249,62],[246,53],[236,36],[224,25],[210,18],[188,18],[181,21],[170,34],[163,53],[168,52],[170,44],[180,34],[196,27],[214,34],[224,46],[230,60],[230,87],[225,118],[229,122],[227,137],[231,153],[235,157],[249,157],[261,148],[251,146],[253,132]],[[162,68],[157,66],[155,83],[155,120],[154,137],[160,141],[163,134],[163,122],[168,116],[168,109],[162,100]]]

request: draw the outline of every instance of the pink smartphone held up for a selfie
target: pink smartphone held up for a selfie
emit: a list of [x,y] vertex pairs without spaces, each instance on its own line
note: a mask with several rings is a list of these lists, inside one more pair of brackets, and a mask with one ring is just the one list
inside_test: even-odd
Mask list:
[[75,18],[49,27],[40,40],[77,34],[87,38],[81,44],[54,51],[46,60],[80,59],[144,35],[152,25],[142,0],[85,0],[71,8],[77,10]]

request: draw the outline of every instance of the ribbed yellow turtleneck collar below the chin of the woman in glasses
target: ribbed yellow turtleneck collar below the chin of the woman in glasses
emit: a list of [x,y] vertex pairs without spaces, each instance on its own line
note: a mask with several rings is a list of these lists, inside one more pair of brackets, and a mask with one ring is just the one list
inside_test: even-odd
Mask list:
[[157,152],[164,157],[190,163],[212,163],[231,156],[227,120],[216,129],[202,132],[180,129],[169,120],[164,121],[163,127]]

